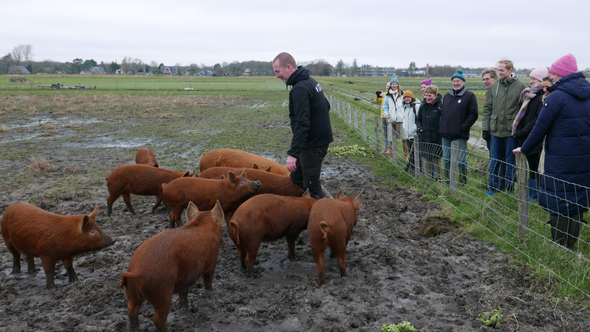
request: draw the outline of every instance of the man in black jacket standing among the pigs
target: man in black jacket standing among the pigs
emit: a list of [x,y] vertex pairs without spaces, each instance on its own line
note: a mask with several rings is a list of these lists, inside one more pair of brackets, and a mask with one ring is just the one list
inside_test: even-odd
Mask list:
[[328,145],[334,140],[330,125],[330,103],[322,87],[309,76],[304,67],[297,67],[293,56],[287,52],[272,61],[277,78],[293,88],[289,92],[289,119],[291,120],[291,148],[287,151],[287,169],[291,181],[303,189],[309,189],[313,198],[326,197],[322,191],[320,175],[322,161],[328,153]]

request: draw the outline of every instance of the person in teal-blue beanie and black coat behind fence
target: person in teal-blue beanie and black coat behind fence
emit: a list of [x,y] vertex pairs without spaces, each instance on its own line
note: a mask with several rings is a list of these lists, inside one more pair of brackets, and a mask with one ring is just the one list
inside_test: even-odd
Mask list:
[[453,90],[445,95],[442,104],[439,133],[442,136],[444,158],[444,178],[450,179],[451,143],[459,142],[458,166],[459,184],[467,184],[467,140],[471,127],[477,120],[477,97],[465,87],[465,76],[462,70],[457,70],[451,77]]

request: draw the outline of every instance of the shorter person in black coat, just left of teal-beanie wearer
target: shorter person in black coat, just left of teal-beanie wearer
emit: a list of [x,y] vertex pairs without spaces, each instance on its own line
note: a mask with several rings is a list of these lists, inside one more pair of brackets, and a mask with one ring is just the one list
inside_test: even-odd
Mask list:
[[418,132],[420,155],[424,158],[424,171],[440,181],[440,157],[442,157],[441,136],[439,134],[442,96],[436,85],[424,90],[424,103],[420,105],[416,115],[416,131]]

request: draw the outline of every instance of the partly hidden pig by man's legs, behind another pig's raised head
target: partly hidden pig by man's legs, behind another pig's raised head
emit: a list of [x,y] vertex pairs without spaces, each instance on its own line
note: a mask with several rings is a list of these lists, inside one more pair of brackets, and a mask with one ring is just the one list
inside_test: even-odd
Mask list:
[[[204,179],[221,179],[222,176],[227,175],[227,172],[239,172],[243,168],[234,167],[211,167],[199,174],[199,178]],[[276,194],[282,196],[301,197],[304,190],[291,181],[291,178],[284,175],[278,175],[272,172],[267,172],[259,169],[248,169],[248,179],[253,181],[260,181],[262,186],[256,192],[260,194]]]

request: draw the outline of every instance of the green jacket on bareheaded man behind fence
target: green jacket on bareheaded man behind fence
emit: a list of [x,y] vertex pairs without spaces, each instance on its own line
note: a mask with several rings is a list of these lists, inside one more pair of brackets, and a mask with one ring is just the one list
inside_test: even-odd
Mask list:
[[526,83],[517,76],[492,83],[486,92],[481,129],[496,137],[512,136],[512,122],[520,108],[518,98],[525,88]]

